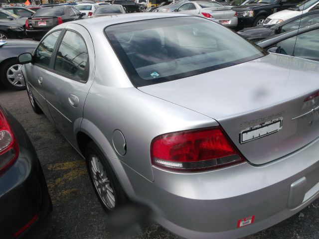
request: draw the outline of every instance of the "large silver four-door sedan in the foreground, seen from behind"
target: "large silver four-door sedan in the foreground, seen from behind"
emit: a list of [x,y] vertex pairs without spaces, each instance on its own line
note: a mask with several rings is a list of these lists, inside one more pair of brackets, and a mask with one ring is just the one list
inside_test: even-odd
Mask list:
[[18,59],[106,211],[129,198],[181,237],[229,239],[319,196],[318,62],[177,13],[63,23]]

